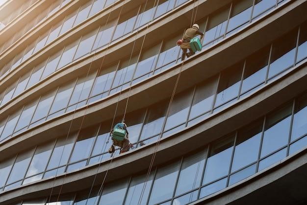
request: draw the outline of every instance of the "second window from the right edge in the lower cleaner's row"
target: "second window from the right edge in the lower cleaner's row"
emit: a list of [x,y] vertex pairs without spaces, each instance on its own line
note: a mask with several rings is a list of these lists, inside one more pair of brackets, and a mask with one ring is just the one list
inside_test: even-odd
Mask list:
[[297,31],[284,35],[273,43],[268,78],[280,73],[294,64]]

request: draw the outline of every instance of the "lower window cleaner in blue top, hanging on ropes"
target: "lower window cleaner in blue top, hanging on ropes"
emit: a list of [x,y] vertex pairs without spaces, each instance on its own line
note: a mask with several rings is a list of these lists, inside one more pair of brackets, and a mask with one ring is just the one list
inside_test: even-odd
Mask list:
[[127,125],[125,124],[125,121],[122,120],[122,122],[117,123],[114,126],[114,128],[111,130],[110,136],[113,136],[114,129],[125,130],[126,131],[126,137],[124,137],[124,139],[122,141],[118,141],[116,139],[113,139],[113,137],[112,137],[113,144],[111,145],[111,147],[109,149],[109,153],[113,153],[115,151],[115,146],[121,147],[120,154],[122,154],[124,152],[128,152],[133,145],[129,142],[128,130],[127,130]]

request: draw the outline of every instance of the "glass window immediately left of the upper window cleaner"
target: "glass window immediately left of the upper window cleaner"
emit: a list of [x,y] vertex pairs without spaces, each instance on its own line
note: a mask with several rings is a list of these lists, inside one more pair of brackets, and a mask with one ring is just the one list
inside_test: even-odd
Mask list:
[[159,54],[156,68],[168,68],[174,65],[177,61],[180,51],[179,46],[175,46],[178,39],[182,38],[182,33],[176,34],[176,37],[167,39],[163,45],[163,48]]

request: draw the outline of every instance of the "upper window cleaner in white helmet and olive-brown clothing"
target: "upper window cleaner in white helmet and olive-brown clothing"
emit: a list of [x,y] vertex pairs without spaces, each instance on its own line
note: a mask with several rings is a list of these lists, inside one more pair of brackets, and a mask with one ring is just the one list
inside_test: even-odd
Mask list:
[[[191,49],[190,40],[197,35],[201,35],[200,40],[202,40],[204,38],[204,34],[199,31],[199,25],[198,24],[194,24],[192,26],[192,28],[186,29],[186,31],[185,31],[185,33],[182,37],[183,42],[180,44],[180,47],[182,48],[181,61],[184,60],[185,56],[190,57],[191,55],[195,54],[195,52],[193,52],[193,50]],[[187,49],[189,49],[189,51],[190,51],[189,53],[187,53]]]

